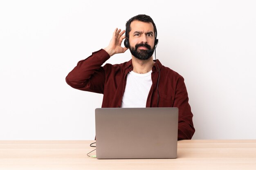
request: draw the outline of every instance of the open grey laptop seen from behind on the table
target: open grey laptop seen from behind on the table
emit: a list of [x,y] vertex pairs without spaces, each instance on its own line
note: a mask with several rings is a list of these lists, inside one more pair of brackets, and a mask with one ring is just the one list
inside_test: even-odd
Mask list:
[[97,159],[177,157],[178,108],[96,108]]

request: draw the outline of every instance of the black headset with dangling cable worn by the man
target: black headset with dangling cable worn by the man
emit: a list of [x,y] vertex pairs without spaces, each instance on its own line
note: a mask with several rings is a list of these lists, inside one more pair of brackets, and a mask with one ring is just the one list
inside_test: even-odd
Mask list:
[[[152,23],[153,24],[153,23]],[[128,25],[130,26],[130,25]],[[158,44],[158,39],[157,39],[157,28],[155,26],[155,24],[153,24],[154,26],[154,30],[155,30],[155,49],[157,48],[157,44]],[[129,48],[130,44],[129,44],[129,38],[128,38],[128,31],[127,31],[127,26],[126,26],[126,30],[125,30],[125,40],[124,40],[124,46],[126,48]],[[156,50],[155,50],[155,60],[157,60],[157,57],[156,57]],[[157,62],[156,62],[157,63]],[[158,91],[158,84],[159,84],[159,77],[160,77],[160,69],[158,67],[158,64],[157,64],[157,69],[159,71],[159,74],[158,74],[158,78],[157,78],[157,107],[158,107],[158,103],[159,103],[159,91]]]

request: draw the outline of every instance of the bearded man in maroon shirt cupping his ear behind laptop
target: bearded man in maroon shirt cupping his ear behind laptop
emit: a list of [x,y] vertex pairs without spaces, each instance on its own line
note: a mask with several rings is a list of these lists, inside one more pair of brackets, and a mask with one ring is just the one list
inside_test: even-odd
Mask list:
[[[125,33],[125,35],[124,35]],[[125,39],[125,47],[121,46]],[[92,53],[67,75],[73,88],[103,94],[102,107],[177,107],[178,140],[191,139],[193,127],[184,78],[153,60],[158,43],[157,30],[148,15],[137,15],[126,22],[126,31],[115,29],[105,49]],[[132,60],[106,64],[110,57],[130,49]]]

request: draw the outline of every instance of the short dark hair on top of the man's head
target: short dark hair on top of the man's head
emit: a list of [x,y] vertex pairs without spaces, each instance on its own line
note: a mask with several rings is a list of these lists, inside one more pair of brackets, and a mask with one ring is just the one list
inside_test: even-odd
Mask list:
[[129,39],[129,33],[131,31],[131,28],[130,28],[130,24],[132,21],[134,20],[138,20],[138,21],[141,21],[141,22],[148,22],[148,23],[152,23],[153,26],[154,26],[154,33],[155,33],[155,38],[156,38],[156,33],[157,33],[157,28],[155,26],[155,23],[154,21],[152,20],[152,18],[148,15],[145,15],[145,14],[140,14],[140,15],[136,15],[132,18],[130,18],[127,22],[126,22],[126,38]]

